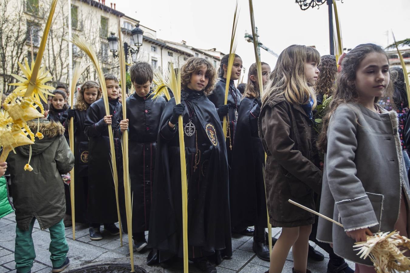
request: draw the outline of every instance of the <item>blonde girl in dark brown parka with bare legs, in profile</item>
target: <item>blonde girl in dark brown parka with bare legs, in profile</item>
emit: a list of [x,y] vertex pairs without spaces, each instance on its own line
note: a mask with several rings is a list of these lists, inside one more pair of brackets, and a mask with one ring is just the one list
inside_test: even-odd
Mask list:
[[320,54],[312,47],[291,45],[280,54],[262,96],[258,122],[266,152],[265,183],[270,223],[282,227],[273,247],[270,273],[282,272],[293,246],[294,272],[306,270],[307,249],[314,215],[288,202],[292,199],[314,210],[314,192],[320,192],[322,172],[312,160],[312,109],[316,96]]

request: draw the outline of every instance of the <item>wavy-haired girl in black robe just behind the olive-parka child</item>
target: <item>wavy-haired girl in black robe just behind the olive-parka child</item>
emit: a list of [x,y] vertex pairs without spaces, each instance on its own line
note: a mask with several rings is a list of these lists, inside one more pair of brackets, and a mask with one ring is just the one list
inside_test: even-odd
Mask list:
[[[87,192],[88,192],[88,137],[84,133],[84,121],[87,109],[96,100],[100,99],[100,84],[96,81],[86,81],[77,93],[77,101],[74,109],[68,109],[67,119],[64,122],[64,136],[69,143],[68,122],[73,117],[74,128],[74,198],[75,198],[75,221],[88,223],[87,220]],[[66,191],[66,214],[71,216],[70,192]],[[71,219],[71,217],[70,217]]]

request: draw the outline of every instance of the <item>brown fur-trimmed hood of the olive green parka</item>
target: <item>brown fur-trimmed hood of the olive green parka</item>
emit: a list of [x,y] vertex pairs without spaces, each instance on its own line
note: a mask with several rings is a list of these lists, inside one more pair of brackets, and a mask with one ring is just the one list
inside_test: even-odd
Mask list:
[[[35,134],[37,132],[38,121],[34,120],[27,122],[27,124],[30,130]],[[55,137],[59,138],[64,136],[64,126],[62,126],[59,122],[40,119],[39,132],[43,134],[43,139],[36,138],[34,140],[34,144],[20,146],[17,147],[16,150],[23,155],[29,156],[31,146],[32,155],[43,153],[43,151],[45,151],[52,144]]]

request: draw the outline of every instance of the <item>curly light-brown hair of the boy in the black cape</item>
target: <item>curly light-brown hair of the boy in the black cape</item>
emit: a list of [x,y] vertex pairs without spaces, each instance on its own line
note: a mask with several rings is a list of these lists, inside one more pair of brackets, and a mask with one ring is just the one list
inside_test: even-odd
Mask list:
[[188,59],[185,65],[182,65],[181,68],[181,88],[184,89],[188,86],[188,83],[191,81],[192,73],[198,72],[201,68],[205,66],[206,70],[206,77],[208,77],[209,81],[207,86],[205,86],[203,92],[205,96],[209,96],[212,94],[212,91],[215,88],[216,83],[216,71],[214,66],[207,60],[198,57],[191,57]]

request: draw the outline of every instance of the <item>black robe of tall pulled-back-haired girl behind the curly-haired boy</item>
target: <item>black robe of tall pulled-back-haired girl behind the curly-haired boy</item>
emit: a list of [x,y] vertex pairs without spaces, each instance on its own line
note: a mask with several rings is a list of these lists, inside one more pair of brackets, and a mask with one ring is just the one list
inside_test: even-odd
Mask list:
[[[209,96],[209,100],[215,105],[216,110],[218,110],[218,108],[221,107],[225,102],[225,86],[226,79],[220,78],[219,81],[216,83],[214,91]],[[233,108],[229,108],[229,129],[227,128],[226,130],[227,136],[229,136],[229,134],[231,136],[230,138],[226,138],[226,150],[228,152],[228,165],[230,168],[232,167],[232,150],[235,142],[235,131],[237,124],[237,120],[235,119],[235,111],[238,111],[239,113],[239,104],[241,103],[241,98],[242,95],[239,92],[239,90],[235,88],[234,82],[230,81],[227,104],[232,104]],[[222,122],[223,117],[221,118],[221,123]],[[230,130],[230,133],[228,130]]]

